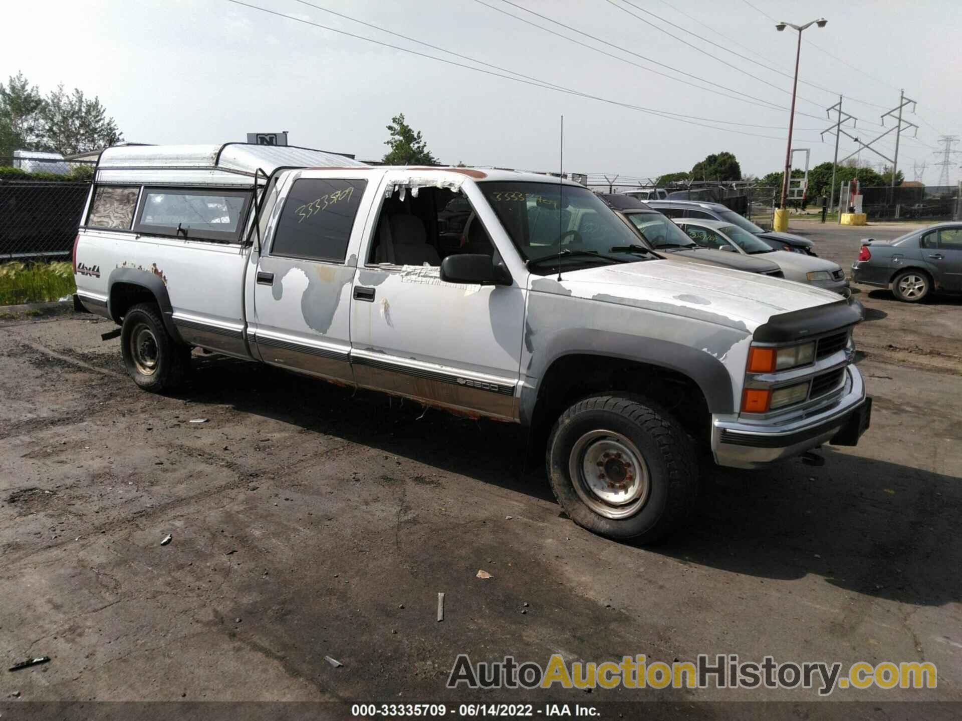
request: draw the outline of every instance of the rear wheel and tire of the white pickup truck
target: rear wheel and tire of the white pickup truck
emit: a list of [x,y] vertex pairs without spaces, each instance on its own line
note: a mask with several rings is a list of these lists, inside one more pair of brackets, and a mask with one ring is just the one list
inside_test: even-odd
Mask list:
[[181,385],[190,368],[190,346],[167,333],[153,303],[139,303],[124,315],[120,349],[134,383],[155,393]]

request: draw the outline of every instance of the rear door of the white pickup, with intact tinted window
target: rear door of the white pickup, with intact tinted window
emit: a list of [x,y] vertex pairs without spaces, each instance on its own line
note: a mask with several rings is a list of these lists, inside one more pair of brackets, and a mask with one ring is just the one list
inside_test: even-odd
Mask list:
[[370,200],[362,171],[295,171],[257,259],[251,347],[271,365],[353,383],[351,285]]

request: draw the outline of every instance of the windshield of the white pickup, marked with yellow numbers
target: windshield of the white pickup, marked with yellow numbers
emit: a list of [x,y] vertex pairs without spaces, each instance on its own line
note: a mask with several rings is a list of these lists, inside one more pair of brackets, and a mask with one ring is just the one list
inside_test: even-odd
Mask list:
[[[559,252],[564,254],[559,262],[566,265],[645,260],[637,253],[611,251],[638,245],[638,237],[586,187],[495,181],[478,183],[478,187],[525,261]],[[594,258],[595,253],[601,255]],[[532,272],[547,273],[549,267],[532,267]]]

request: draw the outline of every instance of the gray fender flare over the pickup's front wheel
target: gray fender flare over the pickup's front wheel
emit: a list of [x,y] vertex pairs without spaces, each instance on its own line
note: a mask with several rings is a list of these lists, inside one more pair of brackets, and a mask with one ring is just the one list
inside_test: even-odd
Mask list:
[[551,338],[550,347],[532,357],[528,366],[530,376],[539,379],[535,387],[522,386],[519,399],[521,422],[529,424],[534,417],[540,380],[551,365],[571,355],[599,356],[634,360],[683,373],[701,389],[712,413],[732,413],[735,399],[731,376],[721,360],[690,345],[660,338],[578,329],[562,331]]

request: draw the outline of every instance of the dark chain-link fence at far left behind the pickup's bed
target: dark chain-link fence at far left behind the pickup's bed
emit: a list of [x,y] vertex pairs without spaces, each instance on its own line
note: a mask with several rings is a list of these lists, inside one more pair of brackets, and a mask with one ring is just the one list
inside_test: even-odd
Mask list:
[[0,158],[0,261],[70,255],[92,164]]

